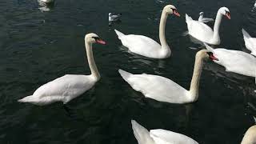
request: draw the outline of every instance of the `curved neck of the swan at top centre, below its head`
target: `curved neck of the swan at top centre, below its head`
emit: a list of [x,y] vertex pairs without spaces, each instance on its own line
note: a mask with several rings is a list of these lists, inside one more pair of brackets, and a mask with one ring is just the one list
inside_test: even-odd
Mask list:
[[159,25],[159,39],[163,49],[170,49],[166,42],[166,20],[168,14],[165,10],[162,10],[160,25]]

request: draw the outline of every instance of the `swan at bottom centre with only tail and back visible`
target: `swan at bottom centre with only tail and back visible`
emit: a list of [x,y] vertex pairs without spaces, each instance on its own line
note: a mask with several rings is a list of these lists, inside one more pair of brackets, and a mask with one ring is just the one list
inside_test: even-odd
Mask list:
[[198,144],[184,134],[162,129],[148,131],[134,120],[131,120],[131,125],[138,144]]

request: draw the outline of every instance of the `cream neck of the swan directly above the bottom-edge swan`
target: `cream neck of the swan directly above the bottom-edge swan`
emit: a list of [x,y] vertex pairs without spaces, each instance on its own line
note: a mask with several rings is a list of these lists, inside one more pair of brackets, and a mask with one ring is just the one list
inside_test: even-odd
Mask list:
[[194,62],[194,72],[192,76],[192,80],[190,83],[190,98],[192,102],[195,102],[198,99],[198,88],[200,77],[202,73],[202,65],[203,65],[203,58],[202,53],[199,51],[196,54],[195,62]]

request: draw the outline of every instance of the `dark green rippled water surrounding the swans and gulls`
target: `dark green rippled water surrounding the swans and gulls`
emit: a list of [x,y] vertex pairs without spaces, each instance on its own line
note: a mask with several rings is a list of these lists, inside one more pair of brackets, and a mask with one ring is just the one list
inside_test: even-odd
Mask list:
[[[169,1],[166,1],[169,2]],[[143,98],[122,80],[118,69],[158,74],[189,88],[194,54],[189,47],[185,14],[198,18],[200,11],[214,18],[219,7],[230,9],[223,18],[222,47],[244,50],[242,27],[256,37],[254,2],[239,0],[172,1],[181,18],[170,16],[166,39],[172,56],[152,60],[129,54],[114,34],[144,34],[158,40],[158,22],[167,3],[142,0],[57,0],[48,12],[34,0],[0,2],[0,143],[135,144],[130,119],[148,129],[162,128],[186,134],[199,143],[240,143],[254,125],[254,78],[226,73],[222,66],[206,62],[198,102],[174,105]],[[109,12],[121,12],[122,22],[108,26]],[[213,24],[210,24],[211,26]],[[64,74],[89,74],[84,35],[94,32],[108,45],[94,45],[94,58],[102,74],[100,82],[68,104],[34,106],[18,103],[42,84]]]

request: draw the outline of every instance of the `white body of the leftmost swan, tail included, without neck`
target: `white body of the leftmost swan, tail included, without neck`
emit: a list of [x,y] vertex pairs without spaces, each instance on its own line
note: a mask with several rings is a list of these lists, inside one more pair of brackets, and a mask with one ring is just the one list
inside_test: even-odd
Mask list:
[[65,104],[89,90],[95,82],[90,75],[66,74],[40,86],[33,95],[22,98],[18,102],[30,102],[39,106],[59,101]]

